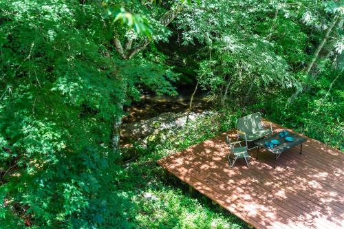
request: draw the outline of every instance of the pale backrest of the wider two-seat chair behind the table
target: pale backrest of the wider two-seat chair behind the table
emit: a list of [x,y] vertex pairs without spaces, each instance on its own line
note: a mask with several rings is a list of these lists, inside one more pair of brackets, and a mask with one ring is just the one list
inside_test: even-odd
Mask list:
[[252,133],[255,130],[261,129],[261,114],[256,112],[249,116],[238,118],[237,129],[245,133]]

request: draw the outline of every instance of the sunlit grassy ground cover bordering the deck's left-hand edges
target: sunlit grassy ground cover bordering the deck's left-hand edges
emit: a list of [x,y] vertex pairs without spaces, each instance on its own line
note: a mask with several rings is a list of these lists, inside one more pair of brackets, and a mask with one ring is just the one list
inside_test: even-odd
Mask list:
[[120,217],[129,221],[123,228],[248,228],[208,197],[196,191],[189,193],[189,186],[155,163],[220,133],[222,126],[215,124],[218,118],[217,113],[209,113],[202,122],[196,120],[168,133],[167,140],[157,139],[147,149],[136,145],[138,157],[123,166],[118,179],[117,193],[127,199],[120,206]]

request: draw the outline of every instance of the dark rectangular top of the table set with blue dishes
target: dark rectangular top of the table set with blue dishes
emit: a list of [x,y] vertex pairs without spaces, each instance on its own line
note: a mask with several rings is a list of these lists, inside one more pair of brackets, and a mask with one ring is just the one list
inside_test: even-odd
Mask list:
[[[306,138],[303,138],[300,135],[297,135],[296,133],[292,133],[290,131],[287,131],[287,132],[288,132],[288,135],[286,137],[294,138],[292,142],[287,142],[286,137],[281,138],[279,136],[279,133],[275,133],[268,138],[264,138],[262,140],[255,142],[255,144],[257,146],[264,147],[266,150],[270,151],[271,153],[279,154],[288,149],[291,149],[294,146],[297,146],[298,144],[302,144],[303,142],[307,140]],[[265,146],[265,142],[271,142],[271,140],[279,140],[279,144],[275,145],[274,148],[272,149]]]

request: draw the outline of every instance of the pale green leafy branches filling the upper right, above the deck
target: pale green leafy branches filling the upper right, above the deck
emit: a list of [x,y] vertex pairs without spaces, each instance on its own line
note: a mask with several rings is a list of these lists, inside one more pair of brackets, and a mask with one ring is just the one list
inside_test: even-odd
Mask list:
[[[278,87],[299,90],[308,83],[302,70],[331,23],[326,14],[339,20],[341,4],[204,0],[188,6],[177,25],[184,45],[205,46],[198,53],[197,80],[202,87],[219,98],[215,101],[221,105],[226,100],[247,104],[254,103],[257,94],[270,94]],[[336,47],[341,50],[338,34]],[[327,48],[324,56],[333,45]]]

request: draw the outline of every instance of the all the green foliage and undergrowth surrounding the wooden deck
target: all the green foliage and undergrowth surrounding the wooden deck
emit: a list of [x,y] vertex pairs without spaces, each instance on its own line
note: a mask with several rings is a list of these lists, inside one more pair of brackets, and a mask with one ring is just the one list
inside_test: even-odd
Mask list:
[[[222,106],[122,163],[123,105],[174,96],[175,65],[189,67],[161,50],[169,39]],[[0,228],[245,227],[153,161],[257,110],[343,149],[343,46],[341,1],[0,1]]]

